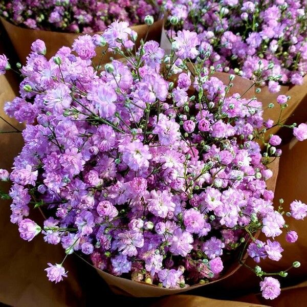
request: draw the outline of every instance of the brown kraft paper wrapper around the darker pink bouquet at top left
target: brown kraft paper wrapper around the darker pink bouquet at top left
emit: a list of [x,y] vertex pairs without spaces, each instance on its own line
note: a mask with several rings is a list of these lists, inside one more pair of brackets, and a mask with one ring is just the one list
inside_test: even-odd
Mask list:
[[[14,46],[14,49],[19,57],[19,60],[22,64],[26,63],[26,58],[31,52],[31,44],[36,39],[41,39],[45,41],[47,54],[47,59],[50,59],[52,56],[56,54],[56,52],[63,46],[71,47],[74,40],[78,38],[82,33],[63,33],[63,32],[54,32],[54,31],[45,31],[45,30],[32,30],[26,29],[22,27],[15,26],[11,24],[9,21],[5,20],[1,17],[2,24],[6,29],[8,36]],[[147,36],[147,40],[160,40],[161,29],[162,29],[163,20],[160,19],[153,23],[149,28],[149,33]],[[145,38],[147,33],[148,26],[147,25],[137,25],[132,26],[132,30],[138,33],[138,39],[136,46],[137,48],[140,46],[141,38]],[[103,32],[97,32],[96,34],[102,34]],[[95,33],[91,33],[94,35]],[[95,64],[98,64],[101,59],[101,52],[106,48],[97,47],[96,53],[97,56],[93,59]],[[101,64],[105,64],[109,62],[110,57],[116,58],[113,53],[107,52],[101,59]]]

